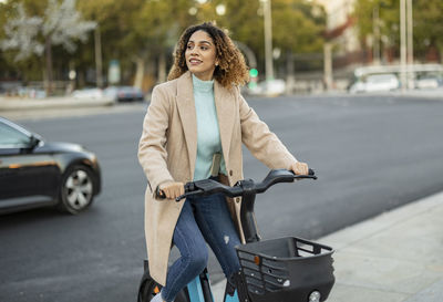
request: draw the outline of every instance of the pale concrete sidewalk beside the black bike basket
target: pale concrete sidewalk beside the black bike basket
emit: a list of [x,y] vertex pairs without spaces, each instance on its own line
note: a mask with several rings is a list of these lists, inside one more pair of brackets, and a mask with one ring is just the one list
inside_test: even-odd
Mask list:
[[317,241],[336,250],[328,302],[443,301],[443,192]]

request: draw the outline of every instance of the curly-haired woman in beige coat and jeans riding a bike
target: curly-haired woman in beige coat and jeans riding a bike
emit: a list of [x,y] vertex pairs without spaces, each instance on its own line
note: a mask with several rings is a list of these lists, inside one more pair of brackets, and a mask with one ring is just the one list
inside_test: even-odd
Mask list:
[[[204,270],[206,242],[228,280],[239,269],[234,247],[245,241],[240,198],[216,195],[176,202],[185,183],[213,177],[231,186],[243,179],[241,143],[269,168],[308,174],[308,166],[297,162],[240,95],[239,85],[247,80],[245,60],[229,37],[203,23],[183,33],[168,82],[154,87],[138,146],[148,179],[150,272],[164,285],[152,301],[173,301]],[[172,243],[181,258],[168,268]]]

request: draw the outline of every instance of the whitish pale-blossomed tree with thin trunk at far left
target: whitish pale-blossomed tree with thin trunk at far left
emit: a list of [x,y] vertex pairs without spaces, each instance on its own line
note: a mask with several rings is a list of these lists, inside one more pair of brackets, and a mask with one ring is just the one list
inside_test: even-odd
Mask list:
[[75,9],[75,0],[49,0],[41,17],[28,17],[23,3],[17,3],[17,17],[4,25],[7,39],[2,40],[2,50],[18,50],[16,61],[28,59],[32,54],[45,53],[44,82],[48,94],[52,92],[52,46],[62,45],[68,52],[76,49],[75,40],[85,41],[87,32],[95,22],[83,21]]

